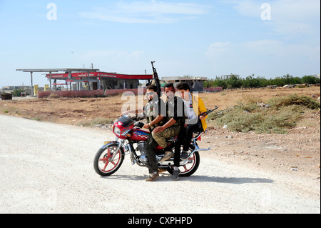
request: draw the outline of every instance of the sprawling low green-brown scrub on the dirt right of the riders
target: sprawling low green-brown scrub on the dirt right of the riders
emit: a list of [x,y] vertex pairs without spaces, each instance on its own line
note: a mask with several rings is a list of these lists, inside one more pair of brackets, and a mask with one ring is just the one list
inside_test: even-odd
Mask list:
[[257,98],[243,97],[233,109],[210,115],[209,119],[233,132],[285,134],[303,118],[305,109],[320,109],[320,104],[307,96],[290,95],[269,100],[263,109]]

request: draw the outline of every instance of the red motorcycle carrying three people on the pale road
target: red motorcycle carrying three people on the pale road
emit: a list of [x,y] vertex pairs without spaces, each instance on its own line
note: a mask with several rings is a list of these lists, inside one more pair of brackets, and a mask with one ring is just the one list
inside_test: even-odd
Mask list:
[[[129,154],[131,164],[138,164],[141,167],[147,167],[147,157],[145,152],[146,142],[150,137],[150,132],[141,129],[143,123],[136,123],[131,117],[125,115],[116,120],[113,125],[113,134],[116,134],[115,141],[105,142],[103,147],[98,150],[93,161],[93,167],[97,174],[106,177],[118,171],[123,164],[123,159]],[[200,149],[197,141],[200,140],[200,132],[193,137],[190,144],[189,157],[180,161],[180,177],[190,177],[194,174],[200,165]],[[169,148],[174,151],[175,137],[167,139]],[[158,168],[165,168],[170,174],[173,174],[174,159],[161,162],[165,152],[163,148],[156,147],[156,159]],[[183,167],[183,169],[182,169]]]

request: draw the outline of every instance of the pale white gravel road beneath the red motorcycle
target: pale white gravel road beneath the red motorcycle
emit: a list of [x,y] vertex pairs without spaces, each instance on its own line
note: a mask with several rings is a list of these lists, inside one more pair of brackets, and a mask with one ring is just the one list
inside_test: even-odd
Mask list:
[[262,172],[201,154],[193,177],[93,171],[111,132],[0,115],[0,213],[320,213],[320,179]]

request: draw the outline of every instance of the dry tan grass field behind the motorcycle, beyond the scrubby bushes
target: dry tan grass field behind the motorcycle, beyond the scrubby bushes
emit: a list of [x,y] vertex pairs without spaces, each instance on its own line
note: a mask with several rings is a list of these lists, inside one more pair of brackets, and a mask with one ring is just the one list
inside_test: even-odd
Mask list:
[[[224,91],[220,93],[199,94],[199,96],[203,99],[207,109],[213,109],[217,105],[219,109],[216,113],[219,113],[229,109],[231,106],[240,106],[243,110],[253,111],[256,109],[256,106],[253,106],[256,102],[267,102],[269,99],[280,98],[289,94],[309,97],[315,94],[318,97],[320,96],[320,87]],[[143,101],[143,104],[147,102],[142,96],[125,97],[122,100],[121,95],[105,98],[0,100],[0,114],[61,124],[93,126],[96,123],[105,124],[110,119],[116,119],[121,114],[123,104],[128,104],[130,99],[133,100],[134,105],[136,103],[136,107],[138,102]],[[286,113],[286,111],[285,109],[283,112]],[[246,117],[254,118],[249,115]],[[285,117],[286,114],[282,118]],[[210,127],[214,127],[216,124],[215,122],[208,121]],[[249,126],[248,128],[250,129],[251,127]]]

